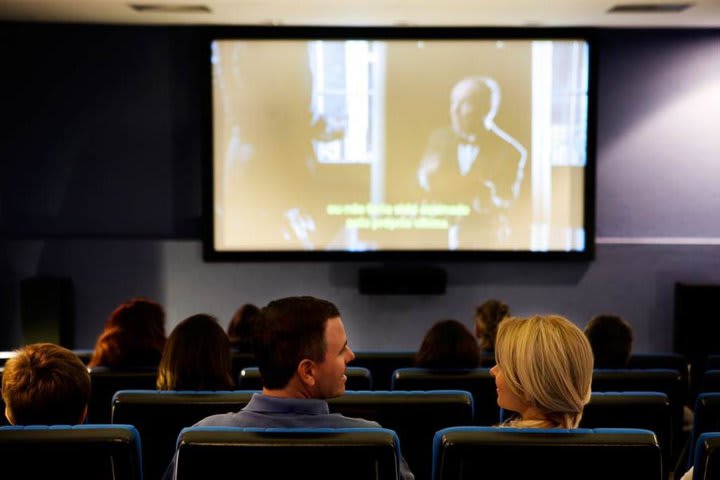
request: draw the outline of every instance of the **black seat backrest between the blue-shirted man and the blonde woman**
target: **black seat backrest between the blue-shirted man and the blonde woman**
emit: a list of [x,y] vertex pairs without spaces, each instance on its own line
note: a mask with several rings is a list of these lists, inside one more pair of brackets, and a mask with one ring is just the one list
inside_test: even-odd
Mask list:
[[469,425],[473,402],[469,392],[348,392],[328,400],[330,411],[375,420],[397,432],[402,454],[418,480],[431,475],[432,439],[438,430]]

